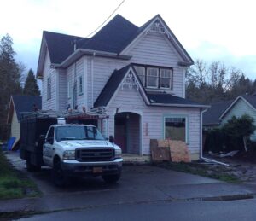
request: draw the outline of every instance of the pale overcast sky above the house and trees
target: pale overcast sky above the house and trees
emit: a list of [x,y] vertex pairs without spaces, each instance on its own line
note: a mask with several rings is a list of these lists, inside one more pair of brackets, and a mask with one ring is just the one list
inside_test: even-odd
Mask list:
[[[16,60],[36,72],[43,30],[87,37],[121,2],[0,0],[0,38],[9,33]],[[223,61],[255,79],[255,5],[253,0],[125,0],[115,14],[137,26],[160,14],[194,60]]]

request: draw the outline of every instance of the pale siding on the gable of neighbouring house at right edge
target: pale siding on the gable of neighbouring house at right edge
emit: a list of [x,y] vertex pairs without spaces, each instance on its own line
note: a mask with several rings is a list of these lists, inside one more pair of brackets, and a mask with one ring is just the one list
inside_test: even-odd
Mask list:
[[[255,98],[256,99],[256,98]],[[254,119],[254,125],[256,125],[256,111],[255,109],[251,108],[247,102],[244,102],[242,99],[239,99],[236,104],[233,106],[233,108],[230,109],[228,113],[225,114],[221,126],[223,126],[229,119],[231,119],[233,116],[241,117],[243,114],[248,114]],[[254,134],[251,136],[251,139],[253,141],[256,141],[256,131],[254,131]]]

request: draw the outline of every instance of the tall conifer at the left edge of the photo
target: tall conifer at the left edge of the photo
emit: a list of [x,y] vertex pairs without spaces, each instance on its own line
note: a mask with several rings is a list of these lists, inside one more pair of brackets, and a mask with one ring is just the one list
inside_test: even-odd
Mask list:
[[6,34],[0,40],[0,139],[7,138],[6,120],[10,96],[21,94],[21,72],[20,65],[15,62],[13,40]]

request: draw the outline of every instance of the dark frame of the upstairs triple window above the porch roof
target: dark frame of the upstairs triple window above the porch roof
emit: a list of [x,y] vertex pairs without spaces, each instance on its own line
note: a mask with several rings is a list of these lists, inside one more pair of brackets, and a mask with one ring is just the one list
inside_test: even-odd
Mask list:
[[[145,64],[137,64],[137,63],[131,63],[133,67],[144,67],[145,68],[145,75],[144,75],[144,85],[143,87],[148,90],[173,90],[173,67],[166,67],[166,66],[154,66],[154,65],[145,65]],[[158,68],[158,86],[157,87],[148,87],[148,67],[150,68]],[[134,68],[135,69],[135,68]],[[171,70],[171,79],[170,79],[170,88],[163,88],[160,87],[160,70],[161,69],[168,69]],[[136,71],[136,70],[135,70]],[[137,73],[137,72],[136,72]],[[139,78],[139,77],[138,77]],[[142,83],[142,82],[141,82]]]

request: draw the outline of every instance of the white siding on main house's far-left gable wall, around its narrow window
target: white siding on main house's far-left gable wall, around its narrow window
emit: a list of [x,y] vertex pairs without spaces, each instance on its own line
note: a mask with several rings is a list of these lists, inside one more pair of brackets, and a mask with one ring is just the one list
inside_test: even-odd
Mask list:
[[[44,71],[42,80],[42,108],[44,110],[56,109],[56,73],[57,71],[50,67],[49,53],[45,55]],[[47,99],[47,79],[51,80],[51,98]]]

